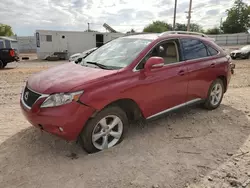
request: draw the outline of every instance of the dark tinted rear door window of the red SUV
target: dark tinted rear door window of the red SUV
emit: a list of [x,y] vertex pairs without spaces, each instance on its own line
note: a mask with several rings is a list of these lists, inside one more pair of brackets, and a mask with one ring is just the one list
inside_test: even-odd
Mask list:
[[181,39],[185,60],[208,57],[206,46],[197,39]]

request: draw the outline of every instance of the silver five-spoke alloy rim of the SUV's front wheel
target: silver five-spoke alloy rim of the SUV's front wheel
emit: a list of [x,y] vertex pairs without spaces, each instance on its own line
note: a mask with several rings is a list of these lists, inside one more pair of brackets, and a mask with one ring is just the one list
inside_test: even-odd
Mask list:
[[92,143],[99,150],[108,149],[119,142],[122,133],[122,120],[116,115],[108,115],[95,125]]

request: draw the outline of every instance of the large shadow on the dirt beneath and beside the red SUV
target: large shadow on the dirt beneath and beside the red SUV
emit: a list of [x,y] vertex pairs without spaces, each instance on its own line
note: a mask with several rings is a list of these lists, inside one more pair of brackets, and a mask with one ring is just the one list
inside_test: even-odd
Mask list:
[[214,111],[185,108],[132,125],[121,144],[91,155],[30,127],[0,145],[0,182],[3,187],[184,187],[217,168],[249,134],[244,113],[226,105]]

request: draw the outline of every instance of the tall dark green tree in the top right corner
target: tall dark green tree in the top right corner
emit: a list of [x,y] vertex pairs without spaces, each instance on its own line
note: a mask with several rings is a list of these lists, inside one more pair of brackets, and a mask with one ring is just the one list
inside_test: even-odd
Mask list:
[[242,0],[235,0],[232,8],[226,10],[227,18],[222,23],[224,33],[246,32],[250,27],[250,6]]

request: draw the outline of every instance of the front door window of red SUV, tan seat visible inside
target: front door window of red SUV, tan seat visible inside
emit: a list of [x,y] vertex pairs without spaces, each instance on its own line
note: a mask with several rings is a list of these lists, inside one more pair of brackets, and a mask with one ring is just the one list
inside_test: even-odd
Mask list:
[[143,69],[146,61],[153,56],[162,57],[164,64],[171,64],[180,61],[178,45],[175,41],[167,41],[154,47],[137,66],[137,70]]

